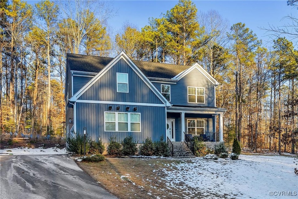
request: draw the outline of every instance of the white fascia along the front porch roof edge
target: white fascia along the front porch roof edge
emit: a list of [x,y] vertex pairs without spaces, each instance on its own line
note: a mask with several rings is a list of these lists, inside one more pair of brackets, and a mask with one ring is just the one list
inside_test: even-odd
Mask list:
[[226,109],[222,108],[194,108],[194,107],[170,107],[167,112],[185,112],[185,113],[200,113],[200,114],[224,114]]

